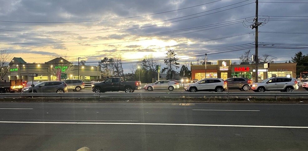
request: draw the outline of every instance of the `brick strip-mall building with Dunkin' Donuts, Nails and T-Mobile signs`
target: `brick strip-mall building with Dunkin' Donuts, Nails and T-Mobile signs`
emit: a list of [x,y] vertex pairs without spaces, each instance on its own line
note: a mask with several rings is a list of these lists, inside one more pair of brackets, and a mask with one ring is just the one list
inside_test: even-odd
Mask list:
[[[296,78],[297,63],[266,63],[268,68],[264,68],[264,63],[258,66],[258,80],[269,77],[290,76]],[[232,65],[231,60],[218,60],[216,65],[191,65],[192,79],[201,80],[205,78],[222,78],[245,77],[254,79],[255,65],[241,63],[240,65]]]

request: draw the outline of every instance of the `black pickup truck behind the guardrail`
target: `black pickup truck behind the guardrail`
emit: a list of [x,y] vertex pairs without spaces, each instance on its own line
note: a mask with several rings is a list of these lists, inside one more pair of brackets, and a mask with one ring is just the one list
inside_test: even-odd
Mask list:
[[120,77],[112,77],[102,82],[93,83],[91,90],[95,93],[104,93],[107,91],[125,91],[126,93],[131,93],[139,89],[141,89],[140,81],[123,81]]

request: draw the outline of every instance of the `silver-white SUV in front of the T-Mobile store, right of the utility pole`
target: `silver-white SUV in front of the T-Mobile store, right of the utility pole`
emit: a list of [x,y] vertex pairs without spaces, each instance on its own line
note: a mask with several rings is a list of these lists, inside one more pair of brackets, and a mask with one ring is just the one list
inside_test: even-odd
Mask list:
[[251,84],[250,89],[255,92],[264,92],[264,91],[293,92],[293,90],[298,89],[298,85],[297,81],[294,78],[272,77],[272,78],[267,78],[259,83]]

